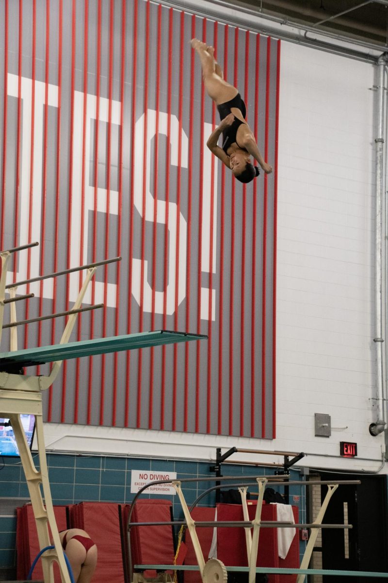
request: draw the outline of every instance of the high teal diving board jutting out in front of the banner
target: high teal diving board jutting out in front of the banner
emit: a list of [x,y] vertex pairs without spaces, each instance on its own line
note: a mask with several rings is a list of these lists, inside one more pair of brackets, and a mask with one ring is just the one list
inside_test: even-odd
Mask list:
[[111,338],[96,338],[94,340],[81,340],[80,342],[69,342],[67,344],[15,350],[14,352],[0,353],[0,370],[6,370],[8,366],[37,366],[38,364],[59,360],[77,359],[82,356],[95,356],[95,354],[135,350],[149,346],[176,344],[178,342],[204,340],[207,338],[207,336],[202,334],[158,330],[154,332],[138,332],[124,336],[112,336]]

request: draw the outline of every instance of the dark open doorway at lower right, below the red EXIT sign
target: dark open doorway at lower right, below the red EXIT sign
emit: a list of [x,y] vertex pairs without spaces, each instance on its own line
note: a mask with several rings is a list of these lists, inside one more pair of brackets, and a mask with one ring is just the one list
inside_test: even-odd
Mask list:
[[[322,480],[361,480],[339,486],[323,523],[351,524],[353,528],[322,529],[322,567],[346,571],[388,572],[386,476],[321,473]],[[322,501],[327,486],[321,487]],[[373,583],[374,577],[346,577],[347,583]],[[323,583],[333,583],[324,576]]]

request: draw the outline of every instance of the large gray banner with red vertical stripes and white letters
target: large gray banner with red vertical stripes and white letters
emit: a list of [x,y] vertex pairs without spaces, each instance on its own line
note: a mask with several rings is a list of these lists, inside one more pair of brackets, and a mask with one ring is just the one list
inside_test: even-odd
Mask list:
[[[122,255],[88,290],[105,310],[72,340],[209,336],[63,363],[46,420],[275,437],[280,41],[147,0],[5,0],[0,30],[0,247],[40,241],[8,283]],[[272,175],[242,185],[207,149],[218,114],[192,37],[239,87]],[[35,298],[19,319],[68,309],[81,282],[20,286]],[[19,346],[58,342],[63,325],[26,326]]]

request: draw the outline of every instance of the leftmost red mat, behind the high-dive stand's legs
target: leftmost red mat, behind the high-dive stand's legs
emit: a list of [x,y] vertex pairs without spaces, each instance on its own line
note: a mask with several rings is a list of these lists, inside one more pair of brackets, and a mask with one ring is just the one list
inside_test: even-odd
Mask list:
[[[58,531],[66,530],[66,506],[54,506],[54,515]],[[26,504],[22,508],[17,508],[16,517],[16,575],[18,579],[25,580],[33,560],[40,551],[34,512],[31,504]],[[51,536],[50,529],[49,534]],[[58,578],[59,570],[56,564],[54,564],[54,573]],[[32,580],[42,579],[42,564],[41,561],[38,561],[34,568]]]

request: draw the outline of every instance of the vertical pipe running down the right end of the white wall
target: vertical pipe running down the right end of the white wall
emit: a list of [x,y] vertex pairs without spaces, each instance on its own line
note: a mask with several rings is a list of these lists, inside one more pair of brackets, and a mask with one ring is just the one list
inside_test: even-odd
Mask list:
[[384,431],[384,375],[383,375],[383,174],[384,174],[384,107],[385,107],[385,74],[388,64],[388,53],[383,53],[378,59],[378,127],[376,144],[376,207],[375,207],[375,338],[376,345],[376,389],[375,403],[376,421],[369,425],[369,433],[378,436]]

